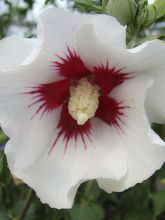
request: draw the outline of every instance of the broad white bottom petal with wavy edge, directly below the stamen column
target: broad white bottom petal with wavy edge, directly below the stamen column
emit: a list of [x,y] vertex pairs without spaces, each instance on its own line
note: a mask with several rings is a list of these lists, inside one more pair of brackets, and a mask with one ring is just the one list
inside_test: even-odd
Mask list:
[[[52,130],[52,125],[57,125],[56,118],[32,123],[26,118],[21,120],[17,123],[19,135],[10,135],[5,152],[11,172],[30,185],[43,203],[70,208],[80,183],[98,177],[120,179],[126,173],[127,158],[117,132],[99,120],[93,121],[92,143],[85,139],[87,149],[78,137],[77,147],[71,140],[64,152],[61,137],[49,155],[58,135],[58,131]],[[14,129],[11,127],[11,131]]]

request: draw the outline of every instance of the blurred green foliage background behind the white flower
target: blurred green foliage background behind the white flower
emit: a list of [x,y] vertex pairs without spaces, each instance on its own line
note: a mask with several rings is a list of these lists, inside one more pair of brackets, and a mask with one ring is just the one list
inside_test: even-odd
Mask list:
[[[147,11],[146,0],[139,2]],[[85,12],[102,13],[104,10],[103,2],[92,0],[0,0],[0,39],[11,34],[36,36],[34,14],[38,4],[41,8],[64,5]],[[151,22],[146,20],[145,23],[144,16],[140,17],[142,11],[136,12],[135,21],[128,24],[128,47],[153,38],[165,39],[165,16],[147,18]],[[165,140],[165,126],[155,124],[153,128]],[[0,220],[165,220],[164,166],[149,180],[122,193],[107,194],[98,188],[95,181],[89,181],[79,188],[72,209],[57,210],[42,204],[28,186],[11,176],[3,153],[7,140],[0,130]]]

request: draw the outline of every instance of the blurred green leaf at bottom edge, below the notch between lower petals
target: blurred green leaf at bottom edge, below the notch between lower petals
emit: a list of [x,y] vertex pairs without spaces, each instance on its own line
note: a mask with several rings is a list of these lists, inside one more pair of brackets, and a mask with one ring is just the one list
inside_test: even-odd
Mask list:
[[70,211],[72,220],[103,220],[104,210],[95,203],[83,202],[75,205]]

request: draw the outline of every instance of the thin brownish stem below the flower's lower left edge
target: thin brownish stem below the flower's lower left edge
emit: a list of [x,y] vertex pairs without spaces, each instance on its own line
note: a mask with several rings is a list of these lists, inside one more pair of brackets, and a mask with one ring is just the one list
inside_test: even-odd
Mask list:
[[25,201],[25,205],[20,213],[20,216],[18,217],[18,220],[24,220],[24,218],[29,210],[30,204],[33,200],[33,197],[34,197],[34,191],[32,189],[30,189],[28,196],[27,196],[27,199]]

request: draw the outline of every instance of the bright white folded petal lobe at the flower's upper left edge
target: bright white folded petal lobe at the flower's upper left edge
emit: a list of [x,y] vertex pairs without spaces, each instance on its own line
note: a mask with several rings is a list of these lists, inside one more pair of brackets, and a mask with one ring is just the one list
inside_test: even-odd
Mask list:
[[0,41],[0,71],[13,69],[20,65],[32,53],[35,45],[35,39],[26,39],[14,35],[2,39]]

